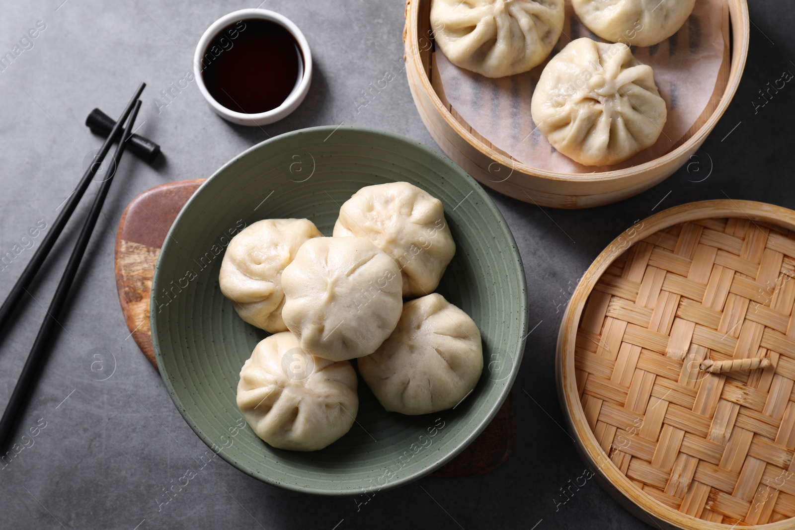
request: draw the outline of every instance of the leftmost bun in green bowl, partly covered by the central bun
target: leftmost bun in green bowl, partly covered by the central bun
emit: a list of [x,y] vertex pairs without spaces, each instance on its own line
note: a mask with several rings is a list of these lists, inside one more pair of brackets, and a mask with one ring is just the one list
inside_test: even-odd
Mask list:
[[281,271],[306,240],[322,235],[308,219],[264,219],[246,226],[223,254],[218,278],[223,296],[252,326],[287,331],[281,319]]

